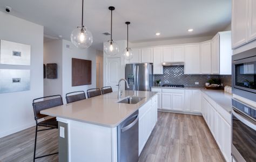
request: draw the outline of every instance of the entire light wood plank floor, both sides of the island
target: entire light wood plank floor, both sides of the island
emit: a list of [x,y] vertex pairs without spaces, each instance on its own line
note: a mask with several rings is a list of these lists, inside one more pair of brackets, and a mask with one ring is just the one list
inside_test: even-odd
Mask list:
[[[35,127],[0,138],[0,161],[32,161]],[[58,150],[58,131],[39,132],[37,156]],[[36,161],[58,161],[53,155]],[[158,112],[139,161],[225,161],[203,117]]]

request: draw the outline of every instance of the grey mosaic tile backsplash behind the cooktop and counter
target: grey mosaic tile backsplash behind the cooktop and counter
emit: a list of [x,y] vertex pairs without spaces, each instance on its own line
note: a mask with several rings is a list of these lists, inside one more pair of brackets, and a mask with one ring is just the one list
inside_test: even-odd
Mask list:
[[[217,78],[224,86],[231,86],[231,75],[184,75],[184,66],[164,66],[164,75],[154,75],[154,80],[161,79],[163,84],[183,84],[185,86],[205,86],[207,80]],[[199,82],[198,85],[194,84]]]

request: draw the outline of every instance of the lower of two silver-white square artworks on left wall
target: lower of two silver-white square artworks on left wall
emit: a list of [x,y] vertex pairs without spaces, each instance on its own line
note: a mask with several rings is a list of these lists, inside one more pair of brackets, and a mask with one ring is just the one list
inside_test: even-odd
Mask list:
[[0,93],[30,90],[30,70],[0,69]]

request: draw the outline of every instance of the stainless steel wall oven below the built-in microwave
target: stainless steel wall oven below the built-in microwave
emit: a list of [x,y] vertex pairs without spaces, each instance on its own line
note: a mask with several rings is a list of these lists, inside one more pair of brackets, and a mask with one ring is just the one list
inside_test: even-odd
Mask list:
[[256,108],[232,99],[233,158],[238,161],[256,161]]

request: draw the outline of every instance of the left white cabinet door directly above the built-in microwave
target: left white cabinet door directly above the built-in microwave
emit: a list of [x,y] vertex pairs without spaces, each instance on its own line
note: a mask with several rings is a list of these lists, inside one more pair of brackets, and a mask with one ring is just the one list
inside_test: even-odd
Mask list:
[[232,0],[232,49],[246,43],[248,0]]

